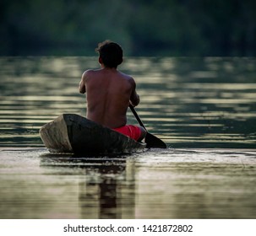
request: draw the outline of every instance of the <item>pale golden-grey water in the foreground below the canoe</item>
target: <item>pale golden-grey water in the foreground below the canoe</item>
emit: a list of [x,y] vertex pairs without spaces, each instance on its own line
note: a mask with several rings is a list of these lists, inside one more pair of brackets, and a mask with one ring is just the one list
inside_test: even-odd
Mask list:
[[0,151],[2,218],[255,218],[255,150]]

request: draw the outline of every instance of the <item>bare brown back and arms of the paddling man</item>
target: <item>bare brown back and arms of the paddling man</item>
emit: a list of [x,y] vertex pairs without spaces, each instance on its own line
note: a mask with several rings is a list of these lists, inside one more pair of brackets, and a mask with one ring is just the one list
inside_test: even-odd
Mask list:
[[87,118],[109,128],[125,126],[129,103],[139,104],[135,88],[133,78],[116,68],[103,65],[99,70],[84,72],[79,92],[86,92]]

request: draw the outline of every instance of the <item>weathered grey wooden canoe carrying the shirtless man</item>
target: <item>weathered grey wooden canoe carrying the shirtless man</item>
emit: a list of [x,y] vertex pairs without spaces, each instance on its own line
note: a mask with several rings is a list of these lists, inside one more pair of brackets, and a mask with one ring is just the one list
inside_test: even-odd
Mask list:
[[40,134],[51,153],[133,153],[145,148],[144,143],[75,114],[58,116],[42,126]]

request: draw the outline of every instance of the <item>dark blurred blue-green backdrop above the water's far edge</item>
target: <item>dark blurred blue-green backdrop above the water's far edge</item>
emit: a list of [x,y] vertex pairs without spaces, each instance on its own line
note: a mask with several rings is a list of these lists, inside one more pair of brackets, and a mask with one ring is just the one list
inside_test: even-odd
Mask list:
[[2,0],[0,55],[91,56],[109,39],[129,56],[256,56],[255,7],[252,0]]

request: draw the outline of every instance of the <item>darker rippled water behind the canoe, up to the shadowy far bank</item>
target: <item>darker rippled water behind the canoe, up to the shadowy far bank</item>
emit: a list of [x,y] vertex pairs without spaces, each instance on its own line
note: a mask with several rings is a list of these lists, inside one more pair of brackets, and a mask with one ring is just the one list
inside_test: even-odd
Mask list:
[[[96,57],[1,57],[0,145],[42,147],[38,131],[63,113],[85,115],[78,85]],[[128,57],[144,125],[172,148],[256,148],[253,57]],[[131,112],[128,122],[137,123]]]

